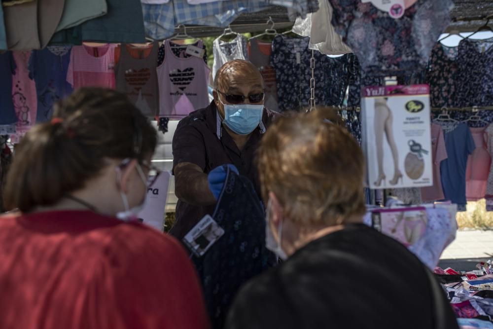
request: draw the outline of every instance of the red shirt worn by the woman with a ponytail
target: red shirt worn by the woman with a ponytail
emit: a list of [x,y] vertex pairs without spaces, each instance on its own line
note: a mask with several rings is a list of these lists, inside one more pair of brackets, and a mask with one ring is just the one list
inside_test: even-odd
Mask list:
[[176,240],[89,211],[0,218],[2,329],[205,329]]

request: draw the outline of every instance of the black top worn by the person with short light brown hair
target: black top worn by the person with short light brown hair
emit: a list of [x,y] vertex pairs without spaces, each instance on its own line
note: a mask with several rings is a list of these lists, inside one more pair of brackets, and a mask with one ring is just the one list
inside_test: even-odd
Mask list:
[[[397,241],[354,224],[251,280],[225,328],[434,329],[433,312],[420,260]],[[458,328],[452,308],[445,313],[446,328]]]

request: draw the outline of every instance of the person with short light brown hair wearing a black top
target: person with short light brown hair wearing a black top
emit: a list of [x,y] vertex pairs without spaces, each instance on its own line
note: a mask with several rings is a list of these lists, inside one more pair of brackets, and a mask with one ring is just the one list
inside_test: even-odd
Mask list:
[[362,224],[363,154],[333,117],[282,117],[264,135],[267,245],[285,261],[244,286],[226,328],[458,328],[421,261]]

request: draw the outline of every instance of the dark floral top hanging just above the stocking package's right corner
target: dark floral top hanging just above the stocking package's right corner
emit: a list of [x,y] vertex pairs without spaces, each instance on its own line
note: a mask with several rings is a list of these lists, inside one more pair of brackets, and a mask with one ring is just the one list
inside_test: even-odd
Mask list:
[[447,47],[440,42],[433,47],[426,71],[426,83],[430,86],[433,108],[456,106],[457,56],[458,47]]

